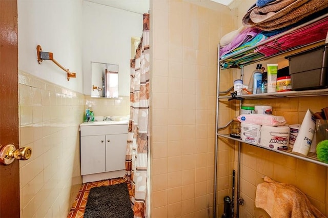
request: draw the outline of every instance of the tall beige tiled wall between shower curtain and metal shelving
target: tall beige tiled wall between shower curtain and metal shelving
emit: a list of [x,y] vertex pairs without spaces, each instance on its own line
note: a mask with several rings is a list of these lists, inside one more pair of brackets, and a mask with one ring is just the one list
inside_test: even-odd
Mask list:
[[151,1],[151,217],[213,216],[217,44],[233,22],[192,2]]

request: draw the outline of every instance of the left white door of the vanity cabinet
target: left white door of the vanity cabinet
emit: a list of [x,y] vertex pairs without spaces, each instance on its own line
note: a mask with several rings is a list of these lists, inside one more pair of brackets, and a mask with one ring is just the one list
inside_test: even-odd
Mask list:
[[81,136],[81,175],[106,172],[105,135]]

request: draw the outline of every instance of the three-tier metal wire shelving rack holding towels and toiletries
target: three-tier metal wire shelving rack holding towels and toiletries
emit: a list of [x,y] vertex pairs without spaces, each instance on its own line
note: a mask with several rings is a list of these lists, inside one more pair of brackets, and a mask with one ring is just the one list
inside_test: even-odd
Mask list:
[[[306,97],[306,96],[328,96],[328,89],[319,89],[319,90],[306,90],[306,91],[287,91],[287,92],[275,92],[275,93],[262,93],[262,94],[245,94],[240,96],[232,97],[228,91],[220,91],[220,71],[228,68],[239,68],[240,79],[243,80],[244,72],[243,67],[256,63],[262,60],[268,60],[272,57],[277,57],[277,55],[285,54],[286,52],[296,51],[296,49],[305,48],[309,45],[314,45],[317,43],[324,43],[326,36],[328,35],[328,13],[323,14],[320,17],[317,17],[309,22],[306,22],[302,25],[294,27],[288,31],[282,32],[275,36],[272,36],[268,39],[265,39],[263,42],[251,46],[248,48],[241,49],[239,51],[235,50],[230,54],[220,56],[220,45],[218,45],[218,65],[217,65],[217,81],[216,81],[216,114],[215,114],[215,128],[216,128],[216,137],[215,137],[215,170],[214,170],[214,202],[216,205],[216,186],[217,186],[217,165],[218,165],[218,139],[219,137],[228,138],[235,142],[238,142],[238,164],[237,164],[237,199],[240,197],[240,168],[241,168],[241,143],[256,146],[259,148],[267,149],[273,152],[281,153],[283,155],[291,156],[306,162],[311,162],[321,166],[328,167],[328,164],[320,162],[317,158],[316,153],[309,152],[308,156],[300,156],[292,152],[292,149],[289,150],[274,150],[269,147],[263,147],[257,144],[245,143],[241,139],[230,137],[230,135],[219,134],[221,129],[218,124],[220,122],[219,111],[220,111],[220,100],[245,100],[245,99],[265,99],[265,98],[283,98],[283,97]],[[306,33],[306,34],[304,34]],[[301,39],[301,40],[299,40]],[[235,105],[234,105],[235,106]],[[239,101],[239,108],[241,107],[241,101]],[[214,209],[214,214],[216,210]],[[236,217],[239,217],[239,204],[236,204]]]

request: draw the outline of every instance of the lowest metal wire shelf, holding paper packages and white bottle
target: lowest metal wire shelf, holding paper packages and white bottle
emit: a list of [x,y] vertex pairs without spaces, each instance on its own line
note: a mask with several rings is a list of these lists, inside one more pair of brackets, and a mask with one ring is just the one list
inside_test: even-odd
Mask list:
[[280,150],[264,147],[264,146],[261,146],[261,145],[258,145],[258,144],[247,143],[247,142],[244,142],[244,141],[242,141],[238,138],[230,137],[230,135],[219,134],[219,133],[217,133],[217,135],[220,136],[220,137],[229,138],[229,139],[237,141],[237,142],[241,142],[241,143],[256,146],[256,147],[259,147],[259,148],[267,149],[267,150],[274,151],[274,152],[277,152],[277,153],[281,153],[281,154],[284,154],[284,155],[287,155],[287,156],[292,156],[292,157],[298,158],[298,159],[303,160],[303,161],[308,161],[308,162],[311,162],[311,163],[314,163],[314,164],[319,164],[319,165],[328,167],[328,164],[325,164],[325,163],[319,161],[318,158],[317,158],[316,153],[313,153],[313,152],[309,152],[308,156],[300,156],[300,155],[294,154],[292,152],[291,148],[288,148],[288,150],[280,151]]

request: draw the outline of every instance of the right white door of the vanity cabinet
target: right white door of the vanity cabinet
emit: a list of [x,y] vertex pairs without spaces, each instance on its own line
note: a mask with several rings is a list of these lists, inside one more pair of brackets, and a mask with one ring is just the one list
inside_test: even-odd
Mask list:
[[106,172],[125,169],[128,134],[106,135]]

